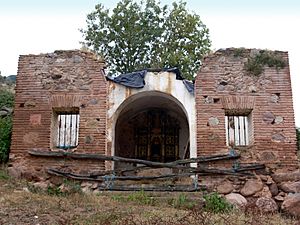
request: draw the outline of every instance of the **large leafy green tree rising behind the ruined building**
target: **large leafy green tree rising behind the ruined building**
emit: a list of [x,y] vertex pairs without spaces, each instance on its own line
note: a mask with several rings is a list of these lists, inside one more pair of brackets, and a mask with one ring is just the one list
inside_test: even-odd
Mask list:
[[211,45],[208,29],[184,2],[168,8],[156,0],[121,0],[112,12],[98,4],[81,32],[111,73],[178,67],[192,79]]

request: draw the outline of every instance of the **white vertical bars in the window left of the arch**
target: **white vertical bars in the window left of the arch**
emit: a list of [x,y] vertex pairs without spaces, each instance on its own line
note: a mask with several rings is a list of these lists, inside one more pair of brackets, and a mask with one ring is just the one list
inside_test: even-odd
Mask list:
[[60,113],[58,115],[57,147],[74,148],[78,145],[79,114]]

